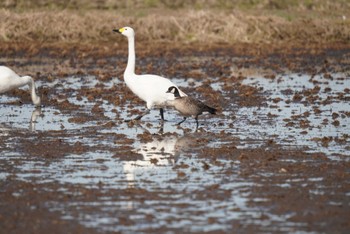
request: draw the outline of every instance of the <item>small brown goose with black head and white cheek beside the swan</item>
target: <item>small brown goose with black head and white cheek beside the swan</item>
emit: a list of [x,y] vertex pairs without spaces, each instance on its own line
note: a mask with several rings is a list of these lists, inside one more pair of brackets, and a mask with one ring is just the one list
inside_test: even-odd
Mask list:
[[181,97],[179,90],[175,86],[168,88],[167,93],[171,93],[174,96],[174,100],[169,100],[169,104],[173,106],[177,111],[184,116],[184,119],[178,123],[178,125],[185,122],[187,117],[194,116],[198,128],[198,116],[203,112],[209,112],[210,114],[216,114],[216,109],[205,105],[203,102],[196,100],[192,97]]

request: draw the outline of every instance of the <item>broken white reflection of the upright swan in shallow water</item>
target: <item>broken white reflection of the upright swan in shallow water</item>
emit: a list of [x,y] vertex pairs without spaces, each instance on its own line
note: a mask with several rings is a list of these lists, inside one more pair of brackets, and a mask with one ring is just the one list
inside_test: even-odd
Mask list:
[[149,142],[140,142],[135,152],[139,159],[124,161],[123,170],[128,187],[135,187],[137,181],[152,181],[164,186],[166,181],[177,176],[171,170],[180,155],[193,144],[194,137],[177,134],[154,135]]

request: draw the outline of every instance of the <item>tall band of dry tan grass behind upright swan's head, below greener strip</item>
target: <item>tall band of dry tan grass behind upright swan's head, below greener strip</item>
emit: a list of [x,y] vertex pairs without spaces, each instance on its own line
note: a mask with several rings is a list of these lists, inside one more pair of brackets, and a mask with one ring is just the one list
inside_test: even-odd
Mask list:
[[[142,11],[140,11],[142,13]],[[184,43],[329,43],[350,40],[350,15],[295,17],[241,10],[0,10],[0,42],[98,43],[122,40],[112,29],[136,29],[138,40]],[[303,13],[298,13],[304,15]],[[118,42],[118,41],[117,41]]]

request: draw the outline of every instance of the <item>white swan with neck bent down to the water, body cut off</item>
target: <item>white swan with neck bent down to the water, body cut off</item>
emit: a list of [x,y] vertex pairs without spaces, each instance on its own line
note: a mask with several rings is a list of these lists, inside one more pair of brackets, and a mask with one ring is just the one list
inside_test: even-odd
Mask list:
[[22,87],[24,85],[29,85],[30,94],[34,105],[40,106],[40,97],[36,95],[35,83],[30,76],[19,76],[10,68],[5,66],[0,66],[0,93],[5,93],[15,88]]

